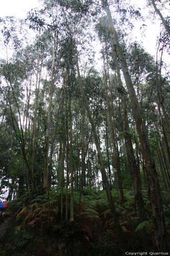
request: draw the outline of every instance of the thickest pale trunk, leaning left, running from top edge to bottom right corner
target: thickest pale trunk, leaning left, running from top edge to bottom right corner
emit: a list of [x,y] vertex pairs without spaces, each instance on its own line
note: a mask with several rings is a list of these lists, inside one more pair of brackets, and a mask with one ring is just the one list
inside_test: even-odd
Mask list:
[[102,0],[102,4],[107,14],[107,18],[109,22],[109,28],[112,36],[112,45],[114,47],[114,51],[116,52],[116,55],[118,56],[120,60],[120,64],[122,66],[122,71],[124,74],[124,78],[125,78],[129,96],[130,96],[132,113],[136,122],[137,132],[138,132],[139,140],[142,146],[142,154],[143,154],[143,158],[146,166],[146,172],[147,172],[149,197],[152,205],[155,247],[157,248],[158,251],[161,251],[161,249],[167,248],[167,239],[166,239],[165,221],[163,216],[162,199],[160,194],[159,181],[156,173],[156,167],[151,155],[151,149],[148,141],[147,131],[145,129],[144,121],[142,120],[142,117],[140,114],[140,108],[139,108],[136,93],[133,87],[133,83],[129,74],[128,66],[127,66],[125,57],[123,55],[123,51],[117,39],[117,34],[113,25],[112,16],[108,6],[106,5],[105,0]]

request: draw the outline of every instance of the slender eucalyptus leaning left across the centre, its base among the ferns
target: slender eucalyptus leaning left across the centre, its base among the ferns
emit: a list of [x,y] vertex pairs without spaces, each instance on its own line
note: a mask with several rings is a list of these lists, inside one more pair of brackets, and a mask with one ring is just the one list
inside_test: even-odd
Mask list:
[[[90,111],[90,108],[89,108],[89,105],[88,105],[88,101],[87,101],[87,98],[86,98],[86,95],[85,95],[85,91],[84,91],[83,83],[82,83],[82,79],[81,79],[81,74],[80,74],[79,54],[78,54],[78,45],[77,45],[77,40],[78,40],[78,38],[80,39],[80,30],[75,30],[75,28],[79,27],[78,25],[80,25],[80,21],[81,21],[80,18],[82,16],[83,12],[81,11],[80,15],[77,12],[76,12],[76,15],[75,15],[75,13],[73,13],[73,11],[71,12],[71,10],[70,11],[67,10],[67,12],[66,12],[63,9],[63,12],[65,14],[65,27],[67,28],[67,33],[69,35],[70,47],[72,49],[72,55],[74,56],[75,65],[76,65],[76,68],[77,68],[79,88],[81,90],[81,95],[82,95],[82,98],[84,100],[84,105],[85,105],[87,116],[88,116],[88,119],[89,119],[89,122],[90,122],[90,125],[91,125],[91,130],[92,130],[93,138],[94,138],[94,141],[95,141],[96,150],[98,152],[100,169],[101,169],[101,173],[102,173],[102,180],[103,180],[103,183],[105,185],[105,189],[106,189],[110,209],[113,212],[115,226],[116,226],[116,229],[117,229],[117,232],[118,232],[120,243],[123,244],[122,229],[121,229],[120,224],[119,224],[118,216],[117,216],[116,210],[115,210],[115,205],[114,205],[113,198],[112,198],[112,195],[111,195],[110,186],[109,186],[109,183],[108,183],[108,178],[107,178],[106,170],[105,170],[105,166],[104,166],[102,151],[101,151],[101,147],[100,147],[100,141],[99,141],[98,133],[97,133],[96,128],[95,128],[94,120],[93,120],[93,117],[92,117],[92,114],[91,114],[91,111]],[[87,23],[83,23],[83,24],[81,23],[81,32],[82,32],[83,25],[85,27],[85,25],[87,26]]]

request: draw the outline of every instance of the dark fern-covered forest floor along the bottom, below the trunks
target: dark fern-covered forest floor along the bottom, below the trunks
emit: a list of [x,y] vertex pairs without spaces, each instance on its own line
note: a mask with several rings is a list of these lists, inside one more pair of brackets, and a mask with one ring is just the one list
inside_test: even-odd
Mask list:
[[[9,204],[7,217],[0,216],[0,250],[2,256],[113,256],[130,252],[154,251],[150,201],[143,190],[147,220],[140,223],[132,190],[125,189],[126,202],[120,204],[116,190],[112,191],[124,234],[120,246],[106,191],[85,189],[81,205],[79,193],[74,193],[75,220],[65,221],[65,190],[61,215],[61,190],[28,195]],[[170,196],[163,191],[167,237],[170,240]],[[70,200],[70,198],[68,198]],[[69,205],[68,205],[69,208]],[[169,241],[170,242],[170,241]]]

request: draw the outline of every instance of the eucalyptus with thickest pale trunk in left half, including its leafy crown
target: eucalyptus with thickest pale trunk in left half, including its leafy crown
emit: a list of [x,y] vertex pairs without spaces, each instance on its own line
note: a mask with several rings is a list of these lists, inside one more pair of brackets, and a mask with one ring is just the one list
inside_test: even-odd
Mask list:
[[[54,153],[54,143],[56,140],[57,123],[59,120],[59,113],[63,105],[63,91],[57,90],[56,83],[60,82],[60,75],[63,67],[60,62],[58,55],[59,45],[61,44],[59,33],[60,30],[60,10],[58,3],[55,4],[53,1],[48,1],[42,10],[30,12],[29,21],[30,26],[39,31],[44,30],[40,36],[41,45],[44,47],[43,51],[47,51],[46,60],[44,66],[47,71],[47,77],[50,76],[49,80],[49,92],[48,92],[48,108],[47,108],[47,119],[45,122],[45,155],[44,155],[44,172],[43,172],[43,187],[48,190],[50,188],[51,176],[52,176],[52,159]],[[40,33],[40,32],[39,32]],[[46,49],[45,49],[46,48]],[[48,53],[50,52],[51,57],[49,58]],[[63,78],[62,78],[63,79]],[[56,104],[57,95],[59,92],[59,108],[57,110],[56,125],[53,125],[53,106]],[[58,100],[58,99],[57,99]],[[53,135],[52,135],[53,134]]]

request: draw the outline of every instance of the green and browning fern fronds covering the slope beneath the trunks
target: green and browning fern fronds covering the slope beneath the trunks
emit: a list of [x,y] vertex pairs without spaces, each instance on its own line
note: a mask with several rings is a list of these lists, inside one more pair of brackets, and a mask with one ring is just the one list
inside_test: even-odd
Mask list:
[[[151,205],[148,204],[147,190],[143,191],[144,204],[147,207],[148,218],[151,216]],[[65,207],[65,189],[63,190],[63,205]],[[120,205],[119,196],[116,190],[112,190],[113,198],[115,200],[116,212],[119,216],[120,226],[126,239],[131,243],[132,237],[135,236],[136,241],[146,231],[151,238],[152,221],[145,221],[139,223],[139,217],[136,215],[134,209],[134,191],[124,190],[126,203]],[[163,197],[166,198],[167,191],[163,191]],[[115,196],[116,195],[116,196]],[[48,195],[36,195],[35,198],[28,204],[26,198],[27,194],[22,196],[22,202],[16,203],[15,209],[17,212],[16,227],[13,231],[13,243],[17,242],[16,248],[23,248],[35,240],[35,236],[41,236],[43,243],[46,240],[51,240],[54,237],[60,238],[62,232],[67,232],[63,229],[65,222],[61,221],[60,216],[60,199],[61,189],[53,189],[49,193],[50,208],[48,209]],[[70,191],[68,194],[70,200]],[[113,214],[107,202],[106,191],[95,191],[92,189],[83,190],[81,207],[79,205],[79,193],[75,191],[74,202],[74,216],[75,225],[80,228],[78,231],[79,237],[81,233],[90,243],[102,244],[113,243],[117,239]],[[21,207],[23,205],[23,207]],[[17,208],[18,207],[18,208]],[[69,206],[68,206],[69,207]],[[167,208],[166,208],[167,207]],[[49,211],[50,210],[50,219]],[[65,208],[64,208],[65,211]],[[166,226],[169,227],[169,213],[168,206],[164,205]],[[65,213],[63,214],[63,221],[65,220]],[[69,224],[70,225],[70,224]],[[69,227],[69,226],[68,226]],[[71,227],[68,228],[68,231]],[[72,231],[69,231],[72,232]],[[44,236],[44,237],[43,237]],[[113,238],[112,238],[113,237]],[[69,238],[70,239],[70,238]],[[78,239],[78,238],[76,238]],[[19,242],[18,242],[19,240]],[[58,241],[58,240],[57,240]],[[52,253],[52,252],[51,252]]]

